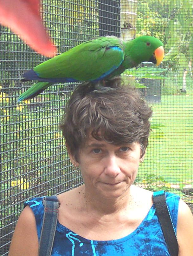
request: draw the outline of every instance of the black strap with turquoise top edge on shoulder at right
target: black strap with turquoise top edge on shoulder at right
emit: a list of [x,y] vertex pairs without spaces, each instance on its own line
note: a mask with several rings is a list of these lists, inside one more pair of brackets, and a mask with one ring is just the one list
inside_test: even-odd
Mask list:
[[168,251],[171,256],[178,255],[178,243],[176,232],[171,219],[170,211],[166,204],[166,196],[164,191],[153,192],[153,203],[156,207],[159,222],[164,234]]

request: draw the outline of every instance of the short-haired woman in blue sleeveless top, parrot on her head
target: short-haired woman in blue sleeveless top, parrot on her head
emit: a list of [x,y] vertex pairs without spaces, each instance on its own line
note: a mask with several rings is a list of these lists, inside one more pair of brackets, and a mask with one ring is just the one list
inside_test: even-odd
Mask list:
[[[81,185],[58,195],[52,255],[170,255],[152,202],[152,192],[133,185],[148,145],[152,111],[120,79],[112,91],[77,87],[61,129]],[[179,197],[166,193],[177,230],[180,256],[193,255],[193,217]],[[13,235],[10,256],[38,255],[42,198],[26,202]]]

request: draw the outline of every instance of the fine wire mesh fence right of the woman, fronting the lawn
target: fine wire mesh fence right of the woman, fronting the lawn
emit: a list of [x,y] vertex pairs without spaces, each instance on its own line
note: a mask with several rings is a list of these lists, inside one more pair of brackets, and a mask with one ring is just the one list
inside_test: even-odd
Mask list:
[[165,49],[160,68],[143,63],[134,71],[135,79],[146,85],[142,91],[153,109],[138,183],[174,191],[192,203],[192,1],[138,1],[137,7],[136,36],[158,37]]

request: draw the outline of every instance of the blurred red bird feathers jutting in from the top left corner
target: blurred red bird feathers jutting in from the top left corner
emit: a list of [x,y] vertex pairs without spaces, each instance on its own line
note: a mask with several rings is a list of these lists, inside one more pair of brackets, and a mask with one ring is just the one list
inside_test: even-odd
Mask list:
[[0,0],[0,23],[38,53],[47,57],[55,55],[56,47],[42,24],[39,0]]

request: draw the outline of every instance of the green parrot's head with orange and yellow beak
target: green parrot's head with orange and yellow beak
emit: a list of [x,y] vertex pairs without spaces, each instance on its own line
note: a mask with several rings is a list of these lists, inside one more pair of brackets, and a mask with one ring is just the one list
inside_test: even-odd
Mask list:
[[163,43],[156,37],[137,37],[126,43],[125,56],[131,58],[134,66],[144,61],[151,61],[158,66],[164,58]]

